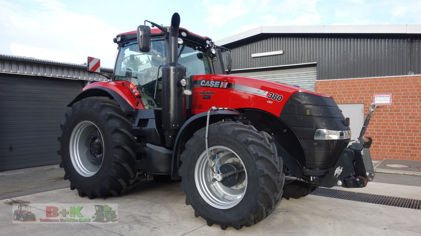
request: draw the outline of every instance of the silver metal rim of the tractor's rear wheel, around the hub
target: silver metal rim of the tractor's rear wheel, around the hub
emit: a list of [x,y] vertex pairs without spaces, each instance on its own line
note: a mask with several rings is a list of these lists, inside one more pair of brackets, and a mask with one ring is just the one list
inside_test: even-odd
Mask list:
[[89,148],[85,144],[92,131],[99,132],[99,129],[91,121],[82,121],[75,126],[70,136],[70,159],[77,173],[85,177],[93,176],[101,167],[101,165],[92,164]]

